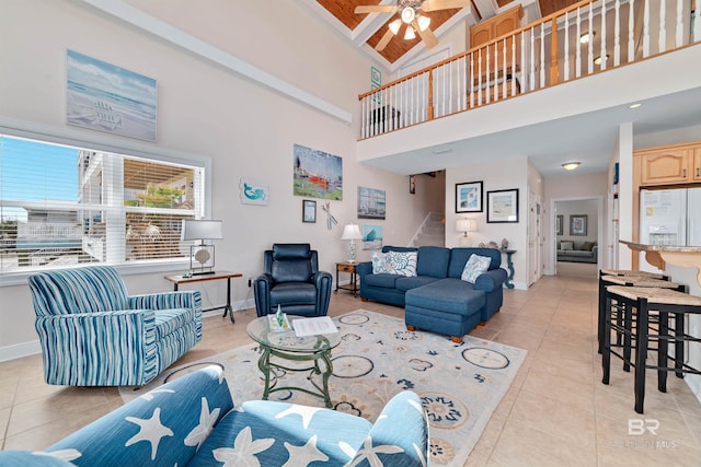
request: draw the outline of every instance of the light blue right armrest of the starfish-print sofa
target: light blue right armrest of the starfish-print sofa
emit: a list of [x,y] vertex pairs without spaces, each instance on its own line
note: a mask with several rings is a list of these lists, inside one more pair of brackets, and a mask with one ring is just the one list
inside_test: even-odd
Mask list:
[[428,465],[428,420],[415,393],[404,390],[387,402],[350,465],[378,446],[375,455],[384,467]]

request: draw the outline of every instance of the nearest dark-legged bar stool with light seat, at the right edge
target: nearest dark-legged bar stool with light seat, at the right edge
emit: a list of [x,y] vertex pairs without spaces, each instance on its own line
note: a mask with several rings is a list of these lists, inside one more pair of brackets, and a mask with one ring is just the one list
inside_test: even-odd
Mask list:
[[[616,300],[619,310],[612,305]],[[637,311],[633,317],[633,308]],[[658,329],[651,334],[651,312],[658,314]],[[621,315],[622,313],[622,315]],[[616,316],[618,314],[618,316]],[[657,371],[657,389],[667,392],[667,373],[675,372],[677,377],[685,373],[699,374],[701,371],[685,363],[685,342],[701,342],[701,338],[688,335],[685,330],[685,316],[701,314],[701,297],[683,292],[660,288],[609,285],[606,288],[606,311],[604,330],[604,351],[601,365],[602,383],[609,384],[611,354],[622,359],[627,365],[635,367],[635,411],[643,413],[645,400],[645,371]],[[620,320],[622,319],[622,325]],[[669,326],[669,323],[673,326]],[[611,330],[627,337],[621,346],[611,343]],[[635,359],[631,359],[632,340],[635,340]],[[657,347],[652,346],[656,342]],[[674,343],[675,354],[670,357],[669,343]],[[627,348],[628,346],[628,348]],[[619,353],[612,348],[623,348]],[[647,364],[647,351],[657,350],[657,364]],[[671,363],[674,365],[671,365]]]

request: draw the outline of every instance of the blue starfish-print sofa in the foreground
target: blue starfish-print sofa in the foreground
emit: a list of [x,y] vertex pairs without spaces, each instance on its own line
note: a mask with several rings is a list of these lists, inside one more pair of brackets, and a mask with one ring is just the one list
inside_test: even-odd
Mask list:
[[375,424],[348,413],[252,400],[234,407],[219,366],[179,377],[43,452],[3,451],[0,465],[221,466],[428,464],[421,399],[402,392]]

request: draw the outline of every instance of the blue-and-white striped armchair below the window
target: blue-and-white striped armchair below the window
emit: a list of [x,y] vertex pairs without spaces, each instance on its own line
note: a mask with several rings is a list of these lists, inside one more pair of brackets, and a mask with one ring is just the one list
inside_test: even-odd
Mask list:
[[143,385],[202,339],[198,291],[129,296],[111,266],[28,281],[48,384]]

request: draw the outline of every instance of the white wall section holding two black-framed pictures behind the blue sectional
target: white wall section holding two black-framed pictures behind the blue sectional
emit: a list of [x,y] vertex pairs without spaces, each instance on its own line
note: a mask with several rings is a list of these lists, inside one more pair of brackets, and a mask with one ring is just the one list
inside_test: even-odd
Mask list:
[[[469,154],[463,154],[466,162]],[[528,187],[524,177],[528,171],[528,160],[516,157],[502,161],[495,164],[472,164],[463,167],[448,168],[446,171],[446,246],[459,246],[459,232],[456,232],[456,221],[458,219],[474,219],[478,222],[478,232],[470,236],[473,238],[473,246],[480,242],[502,243],[502,238],[509,242],[509,248],[516,249],[514,254],[514,285],[516,289],[528,289],[526,272],[528,271],[528,240],[527,240],[527,212],[528,212]],[[466,182],[483,182],[484,200],[483,212],[456,213],[456,184]],[[518,189],[518,223],[487,223],[487,191],[502,189]],[[506,268],[506,258],[502,258],[502,266]]]

